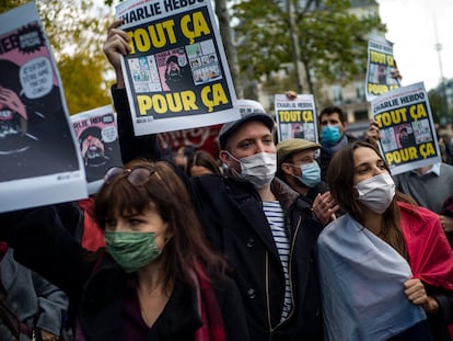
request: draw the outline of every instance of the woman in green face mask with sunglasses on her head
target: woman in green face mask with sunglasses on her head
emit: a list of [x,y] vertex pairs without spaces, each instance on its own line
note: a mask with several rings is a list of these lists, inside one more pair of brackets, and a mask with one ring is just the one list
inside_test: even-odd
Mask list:
[[239,291],[167,162],[109,169],[95,219],[106,247],[92,253],[55,227],[51,207],[0,215],[0,239],[78,308],[77,341],[248,340]]

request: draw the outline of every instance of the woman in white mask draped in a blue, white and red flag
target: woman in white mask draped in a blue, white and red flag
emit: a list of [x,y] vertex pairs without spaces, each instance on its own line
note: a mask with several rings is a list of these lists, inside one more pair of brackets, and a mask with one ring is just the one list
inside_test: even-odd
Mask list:
[[435,214],[395,191],[373,145],[339,150],[327,182],[344,216],[318,238],[327,340],[450,340],[453,251]]

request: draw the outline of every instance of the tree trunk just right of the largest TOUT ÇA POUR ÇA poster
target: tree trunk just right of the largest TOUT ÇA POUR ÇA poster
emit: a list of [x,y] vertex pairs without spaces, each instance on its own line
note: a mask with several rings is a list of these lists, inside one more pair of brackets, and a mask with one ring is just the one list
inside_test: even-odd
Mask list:
[[240,70],[237,62],[236,48],[233,43],[232,30],[230,26],[230,14],[226,8],[226,0],[216,0],[216,14],[219,20],[220,36],[223,41],[231,77],[239,99],[243,98],[244,89],[240,80]]

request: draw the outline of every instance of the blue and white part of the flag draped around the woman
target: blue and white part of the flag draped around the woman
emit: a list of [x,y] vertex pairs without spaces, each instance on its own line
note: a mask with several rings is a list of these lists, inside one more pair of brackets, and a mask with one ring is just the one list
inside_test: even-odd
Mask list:
[[317,246],[326,340],[387,340],[426,320],[404,294],[407,261],[349,214]]

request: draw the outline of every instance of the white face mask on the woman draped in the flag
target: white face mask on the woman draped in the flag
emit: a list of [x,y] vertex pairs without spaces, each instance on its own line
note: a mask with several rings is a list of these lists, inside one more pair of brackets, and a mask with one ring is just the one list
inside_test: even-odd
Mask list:
[[382,214],[395,196],[395,183],[387,173],[363,180],[356,185],[359,202],[371,211]]

